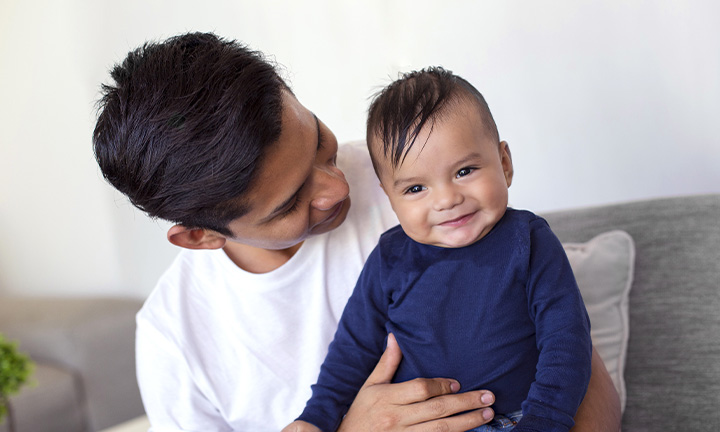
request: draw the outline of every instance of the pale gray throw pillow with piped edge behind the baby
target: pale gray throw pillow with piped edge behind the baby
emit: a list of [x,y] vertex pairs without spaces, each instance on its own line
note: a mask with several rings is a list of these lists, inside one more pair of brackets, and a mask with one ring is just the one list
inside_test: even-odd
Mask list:
[[628,296],[635,244],[625,231],[609,231],[586,243],[564,243],[563,247],[590,316],[593,345],[605,362],[624,411]]

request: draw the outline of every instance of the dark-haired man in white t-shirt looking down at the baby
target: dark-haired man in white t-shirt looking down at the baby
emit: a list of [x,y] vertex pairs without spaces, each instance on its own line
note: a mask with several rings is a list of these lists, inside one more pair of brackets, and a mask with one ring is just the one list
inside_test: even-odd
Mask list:
[[[338,153],[261,53],[212,34],[146,44],[111,75],[93,135],[103,175],[174,222],[168,240],[184,248],[138,314],[150,422],[280,430],[310,395],[365,258],[397,223],[368,186],[367,152]],[[388,346],[340,430],[463,431],[492,418],[493,395],[457,393],[452,377],[388,384],[400,356]],[[578,417],[613,430],[617,395],[594,359]]]

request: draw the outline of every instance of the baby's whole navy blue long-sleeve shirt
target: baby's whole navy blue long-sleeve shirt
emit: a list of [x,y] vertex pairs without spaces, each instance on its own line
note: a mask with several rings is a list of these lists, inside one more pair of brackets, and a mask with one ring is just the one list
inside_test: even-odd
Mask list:
[[334,431],[392,332],[394,382],[457,379],[522,409],[516,431],[567,431],[590,379],[590,323],[562,245],[544,219],[508,209],[457,249],[417,243],[397,226],[371,253],[299,417]]

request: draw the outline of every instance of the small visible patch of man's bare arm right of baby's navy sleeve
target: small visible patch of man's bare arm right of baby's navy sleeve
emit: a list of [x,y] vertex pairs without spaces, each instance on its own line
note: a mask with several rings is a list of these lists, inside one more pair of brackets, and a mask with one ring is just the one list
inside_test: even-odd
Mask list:
[[575,415],[572,432],[618,432],[621,416],[620,397],[605,364],[593,348],[590,384]]

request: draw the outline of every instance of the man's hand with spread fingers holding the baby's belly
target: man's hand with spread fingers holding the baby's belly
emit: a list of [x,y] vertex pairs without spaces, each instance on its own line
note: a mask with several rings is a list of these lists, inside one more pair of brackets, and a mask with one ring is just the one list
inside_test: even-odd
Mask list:
[[[446,378],[390,384],[401,359],[400,347],[390,334],[385,353],[360,389],[338,432],[463,432],[493,418],[493,410],[488,407],[495,402],[495,396],[489,391],[453,394],[460,390],[460,384]],[[454,415],[458,413],[463,414]]]

